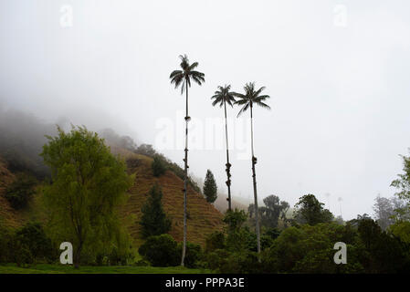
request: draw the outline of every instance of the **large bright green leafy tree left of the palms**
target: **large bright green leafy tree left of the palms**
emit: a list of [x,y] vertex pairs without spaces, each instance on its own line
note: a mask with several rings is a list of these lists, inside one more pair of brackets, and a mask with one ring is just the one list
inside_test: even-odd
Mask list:
[[48,226],[56,242],[71,242],[78,267],[84,249],[110,254],[112,246],[121,246],[117,209],[128,198],[133,176],[98,134],[85,127],[68,133],[58,128],[58,136],[47,139],[41,156],[52,175],[44,188]]

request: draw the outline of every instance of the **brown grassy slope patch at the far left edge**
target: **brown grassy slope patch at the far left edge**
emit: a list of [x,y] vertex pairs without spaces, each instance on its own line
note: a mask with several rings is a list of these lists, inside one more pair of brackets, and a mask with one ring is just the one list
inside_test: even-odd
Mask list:
[[13,209],[5,199],[5,190],[14,180],[15,175],[8,171],[0,158],[0,221],[9,227],[18,227],[23,223],[22,214]]

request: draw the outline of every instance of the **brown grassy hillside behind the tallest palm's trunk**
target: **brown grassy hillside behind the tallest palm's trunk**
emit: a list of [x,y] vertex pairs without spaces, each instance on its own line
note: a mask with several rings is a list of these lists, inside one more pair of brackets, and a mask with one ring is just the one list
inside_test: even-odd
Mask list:
[[[172,220],[170,235],[176,241],[183,240],[184,231],[184,181],[173,172],[167,171],[161,177],[152,174],[152,159],[111,147],[111,151],[119,153],[126,159],[130,173],[136,173],[135,182],[130,190],[130,199],[121,212],[124,219],[134,217],[130,226],[131,236],[137,245],[142,244],[141,225],[138,223],[142,216],[142,205],[148,198],[150,189],[158,182],[163,190],[163,209]],[[196,193],[188,186],[188,241],[199,245],[205,245],[205,238],[216,230],[222,230],[223,214],[214,205],[207,203],[204,196]]]

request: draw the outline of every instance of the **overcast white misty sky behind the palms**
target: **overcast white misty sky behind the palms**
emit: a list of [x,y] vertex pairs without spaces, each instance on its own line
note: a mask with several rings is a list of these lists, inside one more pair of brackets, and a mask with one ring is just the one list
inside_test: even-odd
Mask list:
[[[169,74],[186,53],[206,80],[190,90],[191,172],[209,168],[223,185],[225,150],[206,147],[207,123],[223,121],[210,97],[218,85],[256,81],[272,107],[255,110],[260,198],[293,205],[314,193],[340,214],[342,197],[351,219],[373,214],[378,193],[394,194],[398,154],[410,147],[409,51],[405,0],[0,0],[0,103],[111,127],[183,165],[184,98]],[[237,110],[228,111],[232,189],[250,200],[248,120],[234,119]],[[165,149],[164,133],[175,141]]]

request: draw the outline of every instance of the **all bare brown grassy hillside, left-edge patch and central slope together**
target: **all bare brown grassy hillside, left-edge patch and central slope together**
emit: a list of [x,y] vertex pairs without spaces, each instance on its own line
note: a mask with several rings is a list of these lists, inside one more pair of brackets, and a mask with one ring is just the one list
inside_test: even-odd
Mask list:
[[[150,189],[158,182],[163,189],[163,209],[172,220],[170,235],[176,241],[183,240],[184,227],[184,182],[173,172],[167,171],[156,178],[152,174],[152,159],[148,156],[135,154],[123,148],[112,147],[111,151],[119,154],[127,162],[128,172],[136,173],[135,182],[129,193],[128,202],[121,208],[121,218],[129,225],[130,233],[137,246],[142,244],[140,235],[141,208],[148,197]],[[5,199],[5,190],[13,182],[15,175],[6,168],[0,158],[0,220],[10,227],[18,227],[27,219],[30,211],[15,211]],[[216,208],[205,201],[205,198],[188,187],[188,241],[204,245],[205,238],[213,231],[223,228],[223,215]],[[31,212],[32,213],[32,212]]]

